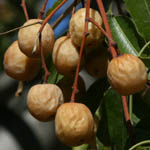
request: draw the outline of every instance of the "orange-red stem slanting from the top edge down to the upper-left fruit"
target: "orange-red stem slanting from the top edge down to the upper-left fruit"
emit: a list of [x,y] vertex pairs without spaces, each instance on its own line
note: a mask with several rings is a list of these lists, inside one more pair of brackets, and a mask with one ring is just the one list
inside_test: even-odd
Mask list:
[[43,21],[41,27],[40,27],[40,30],[39,30],[39,33],[42,32],[45,24],[49,21],[49,19],[55,14],[55,12],[66,2],[67,0],[63,0]]

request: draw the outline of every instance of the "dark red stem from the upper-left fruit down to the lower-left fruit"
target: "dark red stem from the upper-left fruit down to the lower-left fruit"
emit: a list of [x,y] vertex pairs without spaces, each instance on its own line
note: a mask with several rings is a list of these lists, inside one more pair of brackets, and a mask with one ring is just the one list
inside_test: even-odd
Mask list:
[[40,35],[39,35],[39,50],[40,50],[40,54],[41,54],[42,67],[43,67],[44,72],[45,72],[43,83],[47,83],[48,77],[49,77],[49,75],[50,75],[50,72],[48,71],[47,66],[46,66],[46,63],[45,63],[41,39],[42,39],[42,37],[41,37],[41,34],[40,34]]

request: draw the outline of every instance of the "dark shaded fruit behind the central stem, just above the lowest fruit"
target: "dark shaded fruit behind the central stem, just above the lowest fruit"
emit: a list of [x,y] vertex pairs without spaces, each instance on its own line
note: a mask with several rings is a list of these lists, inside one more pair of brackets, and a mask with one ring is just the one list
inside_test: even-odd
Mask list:
[[[72,86],[74,83],[74,78],[69,78],[69,77],[64,77],[62,80],[60,80],[57,85],[61,88],[63,95],[64,95],[64,100],[66,102],[70,101],[71,95],[72,95]],[[76,99],[77,101],[82,100],[85,98],[86,94],[86,89],[85,89],[85,84],[83,79],[79,76],[78,80],[78,93],[76,94]]]

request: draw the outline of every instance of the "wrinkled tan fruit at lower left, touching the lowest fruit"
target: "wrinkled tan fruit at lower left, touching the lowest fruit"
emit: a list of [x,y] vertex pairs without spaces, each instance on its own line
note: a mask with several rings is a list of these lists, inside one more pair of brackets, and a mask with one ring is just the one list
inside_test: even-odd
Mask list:
[[39,121],[54,119],[58,107],[64,102],[60,88],[54,84],[37,84],[27,95],[29,112]]

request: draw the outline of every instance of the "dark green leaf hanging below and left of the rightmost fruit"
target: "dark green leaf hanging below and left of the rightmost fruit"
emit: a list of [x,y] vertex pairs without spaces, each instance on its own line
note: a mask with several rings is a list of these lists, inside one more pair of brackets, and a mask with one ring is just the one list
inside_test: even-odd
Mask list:
[[113,89],[103,98],[103,114],[99,122],[98,137],[114,150],[124,150],[128,139],[121,96]]

